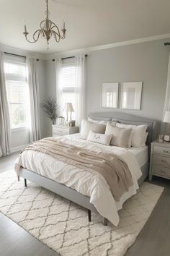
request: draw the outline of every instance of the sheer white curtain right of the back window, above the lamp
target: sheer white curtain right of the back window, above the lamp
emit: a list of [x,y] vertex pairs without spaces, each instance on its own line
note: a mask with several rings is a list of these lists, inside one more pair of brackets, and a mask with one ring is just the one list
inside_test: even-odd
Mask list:
[[76,63],[76,126],[81,125],[81,120],[86,117],[86,74],[85,56],[75,56]]

